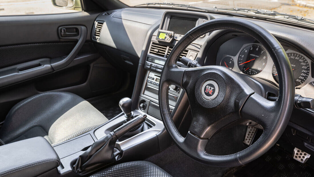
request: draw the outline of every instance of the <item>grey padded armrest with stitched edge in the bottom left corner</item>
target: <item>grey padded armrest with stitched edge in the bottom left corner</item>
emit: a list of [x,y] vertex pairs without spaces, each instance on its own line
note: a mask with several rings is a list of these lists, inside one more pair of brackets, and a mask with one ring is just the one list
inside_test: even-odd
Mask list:
[[60,164],[57,153],[43,137],[0,146],[0,176],[38,176]]

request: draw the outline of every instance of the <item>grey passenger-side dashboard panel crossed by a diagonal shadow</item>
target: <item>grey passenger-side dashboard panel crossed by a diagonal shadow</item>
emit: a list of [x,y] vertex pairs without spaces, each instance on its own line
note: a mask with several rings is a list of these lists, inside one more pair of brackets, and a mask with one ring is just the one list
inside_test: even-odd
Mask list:
[[[123,8],[116,11],[111,15],[99,15],[95,19],[104,21],[99,43],[140,57],[146,35],[154,24],[160,24],[163,11],[152,12],[151,9],[138,8]],[[151,22],[143,23],[143,19]]]

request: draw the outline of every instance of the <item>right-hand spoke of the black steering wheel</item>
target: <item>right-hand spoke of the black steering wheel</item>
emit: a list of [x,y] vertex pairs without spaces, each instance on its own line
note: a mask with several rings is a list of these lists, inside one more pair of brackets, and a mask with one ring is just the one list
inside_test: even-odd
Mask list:
[[271,127],[278,113],[276,108],[278,101],[269,101],[257,93],[251,95],[241,109],[244,119],[253,120],[263,126],[264,129]]

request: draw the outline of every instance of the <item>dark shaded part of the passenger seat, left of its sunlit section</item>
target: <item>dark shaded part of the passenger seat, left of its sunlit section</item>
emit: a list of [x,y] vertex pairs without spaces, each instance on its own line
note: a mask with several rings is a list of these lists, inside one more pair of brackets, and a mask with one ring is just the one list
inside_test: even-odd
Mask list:
[[26,98],[9,111],[0,130],[0,139],[5,143],[12,142],[34,127],[41,127],[47,135],[51,125],[62,114],[82,101],[83,98],[73,93],[59,91]]

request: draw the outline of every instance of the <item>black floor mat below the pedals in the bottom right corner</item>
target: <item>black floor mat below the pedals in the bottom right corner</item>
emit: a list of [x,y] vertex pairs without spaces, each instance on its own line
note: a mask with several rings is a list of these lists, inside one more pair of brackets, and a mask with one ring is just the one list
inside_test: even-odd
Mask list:
[[292,153],[289,154],[281,147],[274,146],[260,158],[247,165],[232,168],[224,175],[224,177],[231,176],[309,177],[314,176],[314,169],[306,163],[294,160]]

